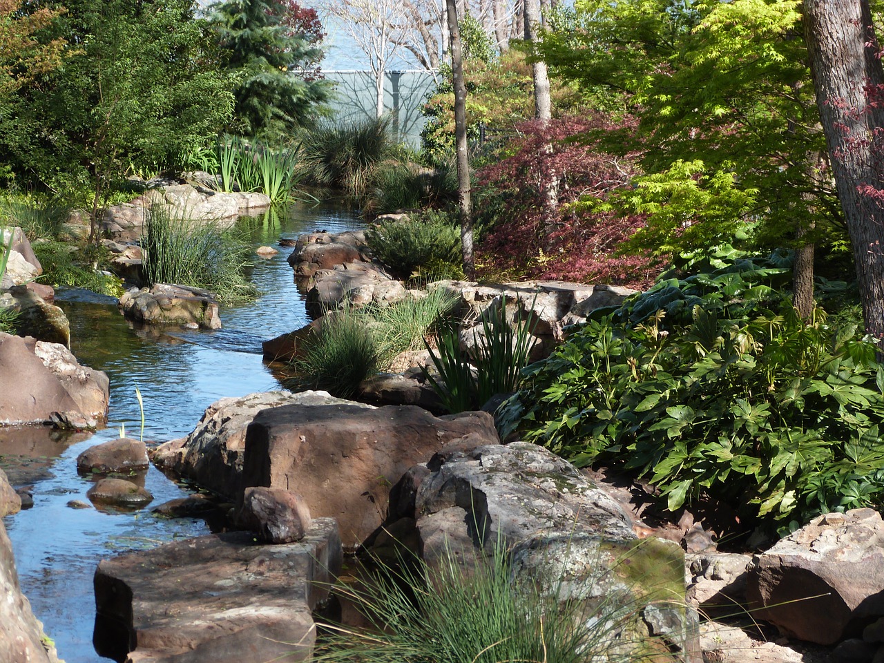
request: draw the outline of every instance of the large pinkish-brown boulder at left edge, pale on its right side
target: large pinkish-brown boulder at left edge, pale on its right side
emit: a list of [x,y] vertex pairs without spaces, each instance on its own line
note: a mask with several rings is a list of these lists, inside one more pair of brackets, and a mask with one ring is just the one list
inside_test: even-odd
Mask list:
[[54,412],[103,419],[108,377],[74,358],[70,350],[0,333],[0,424],[44,423]]

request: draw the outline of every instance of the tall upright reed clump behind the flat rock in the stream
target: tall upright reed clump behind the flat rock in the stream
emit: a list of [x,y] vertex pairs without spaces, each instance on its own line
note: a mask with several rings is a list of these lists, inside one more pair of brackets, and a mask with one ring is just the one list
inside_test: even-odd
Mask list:
[[217,223],[171,218],[155,206],[145,218],[141,249],[149,285],[200,287],[223,302],[248,301],[257,294],[245,277],[251,248],[236,232]]

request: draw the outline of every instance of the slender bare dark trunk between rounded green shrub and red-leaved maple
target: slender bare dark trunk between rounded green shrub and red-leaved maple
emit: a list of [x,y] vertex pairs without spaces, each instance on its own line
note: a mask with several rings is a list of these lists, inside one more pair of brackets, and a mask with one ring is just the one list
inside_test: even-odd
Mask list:
[[454,83],[454,141],[457,146],[457,194],[461,210],[461,247],[463,273],[476,276],[473,258],[473,210],[469,187],[469,154],[467,152],[467,86],[463,80],[461,29],[457,22],[457,0],[446,0],[448,31],[451,33],[451,68]]

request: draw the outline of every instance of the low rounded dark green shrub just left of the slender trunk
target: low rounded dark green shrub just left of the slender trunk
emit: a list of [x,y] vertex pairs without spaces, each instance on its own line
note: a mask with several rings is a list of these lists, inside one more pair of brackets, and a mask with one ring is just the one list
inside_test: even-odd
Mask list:
[[372,254],[397,278],[409,278],[418,269],[450,270],[461,263],[461,232],[437,212],[384,220],[371,225],[365,239]]

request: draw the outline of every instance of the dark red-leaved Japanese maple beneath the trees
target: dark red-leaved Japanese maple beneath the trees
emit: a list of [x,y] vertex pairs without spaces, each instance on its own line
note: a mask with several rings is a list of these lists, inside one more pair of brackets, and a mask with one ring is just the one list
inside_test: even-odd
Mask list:
[[[636,120],[621,119],[617,127],[624,123],[635,126]],[[657,276],[649,258],[616,251],[641,227],[641,217],[617,217],[579,202],[588,195],[604,198],[636,175],[637,153],[613,156],[579,138],[608,128],[613,121],[601,115],[525,122],[507,146],[509,156],[477,173],[480,209],[492,217],[478,250],[486,275],[503,271],[639,288]],[[551,173],[559,180],[555,210],[545,204]]]

